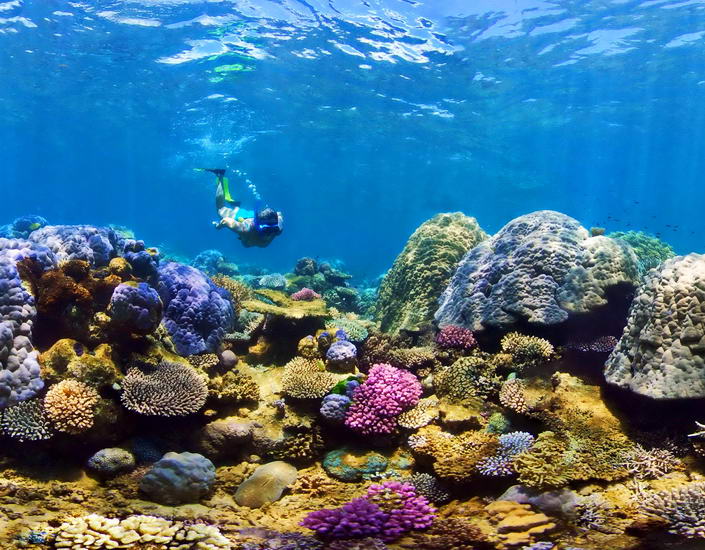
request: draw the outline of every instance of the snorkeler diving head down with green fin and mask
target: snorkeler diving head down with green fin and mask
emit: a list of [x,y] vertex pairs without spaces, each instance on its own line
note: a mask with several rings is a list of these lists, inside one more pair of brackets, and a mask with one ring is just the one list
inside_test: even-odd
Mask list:
[[222,168],[203,168],[212,172],[217,178],[218,187],[215,192],[215,208],[220,216],[219,222],[213,222],[216,229],[227,227],[237,233],[245,247],[259,246],[264,248],[271,243],[283,230],[284,218],[281,212],[269,207],[246,210],[240,201],[230,195],[230,185]]

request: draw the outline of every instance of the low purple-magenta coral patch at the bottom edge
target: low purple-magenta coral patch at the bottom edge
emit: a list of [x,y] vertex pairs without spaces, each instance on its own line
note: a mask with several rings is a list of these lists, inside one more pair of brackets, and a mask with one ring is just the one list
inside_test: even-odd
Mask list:
[[412,485],[387,481],[341,508],[311,512],[301,525],[324,539],[379,537],[388,542],[430,527],[434,518],[435,509]]

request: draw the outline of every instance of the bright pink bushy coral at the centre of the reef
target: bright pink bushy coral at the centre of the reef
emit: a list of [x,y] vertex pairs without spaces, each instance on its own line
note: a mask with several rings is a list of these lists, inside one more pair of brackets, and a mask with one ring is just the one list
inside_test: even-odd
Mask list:
[[345,425],[364,435],[393,433],[397,416],[410,409],[422,393],[416,377],[391,365],[374,365],[352,395]]

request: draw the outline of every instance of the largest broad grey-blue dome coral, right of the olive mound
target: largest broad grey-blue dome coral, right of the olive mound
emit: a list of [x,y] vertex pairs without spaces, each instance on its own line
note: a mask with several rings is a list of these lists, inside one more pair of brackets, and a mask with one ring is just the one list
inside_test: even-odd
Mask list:
[[443,292],[441,326],[552,325],[607,304],[606,291],[635,285],[637,260],[623,241],[598,236],[564,214],[520,216],[470,250]]

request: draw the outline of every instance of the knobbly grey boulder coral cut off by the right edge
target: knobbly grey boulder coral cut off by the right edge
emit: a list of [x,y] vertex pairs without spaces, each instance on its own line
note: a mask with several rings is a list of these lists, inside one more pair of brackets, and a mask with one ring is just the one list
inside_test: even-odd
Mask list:
[[705,397],[705,256],[647,273],[605,377],[656,399]]

